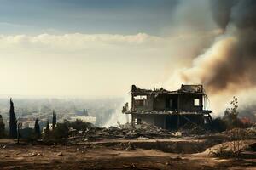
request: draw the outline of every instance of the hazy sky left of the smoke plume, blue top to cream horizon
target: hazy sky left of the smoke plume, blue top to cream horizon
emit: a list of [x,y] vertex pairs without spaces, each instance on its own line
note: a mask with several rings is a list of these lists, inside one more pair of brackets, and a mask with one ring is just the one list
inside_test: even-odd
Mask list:
[[124,96],[131,84],[164,86],[218,34],[206,1],[184,2],[0,0],[0,94]]

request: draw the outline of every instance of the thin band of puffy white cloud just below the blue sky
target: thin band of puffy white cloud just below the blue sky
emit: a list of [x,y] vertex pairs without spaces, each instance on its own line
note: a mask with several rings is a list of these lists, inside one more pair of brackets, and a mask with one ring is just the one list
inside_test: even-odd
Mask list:
[[148,45],[149,43],[160,46],[164,41],[161,37],[149,36],[145,33],[136,35],[111,35],[111,34],[64,34],[50,35],[40,34],[37,36],[15,35],[0,36],[2,45],[15,45],[24,47],[42,47],[42,48],[86,48],[96,45]]

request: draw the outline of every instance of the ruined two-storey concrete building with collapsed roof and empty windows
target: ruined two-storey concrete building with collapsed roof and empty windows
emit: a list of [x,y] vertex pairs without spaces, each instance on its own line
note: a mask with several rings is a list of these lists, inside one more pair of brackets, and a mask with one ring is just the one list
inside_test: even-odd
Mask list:
[[207,94],[202,85],[182,85],[176,91],[142,89],[131,86],[131,123],[146,122],[173,129],[186,124],[203,125],[212,120],[207,110]]

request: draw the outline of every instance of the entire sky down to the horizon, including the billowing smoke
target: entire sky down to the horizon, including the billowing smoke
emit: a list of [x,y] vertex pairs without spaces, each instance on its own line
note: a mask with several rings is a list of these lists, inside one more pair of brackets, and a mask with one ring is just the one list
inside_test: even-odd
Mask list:
[[132,84],[202,83],[214,112],[233,95],[251,104],[255,8],[253,0],[0,0],[0,97],[130,99]]

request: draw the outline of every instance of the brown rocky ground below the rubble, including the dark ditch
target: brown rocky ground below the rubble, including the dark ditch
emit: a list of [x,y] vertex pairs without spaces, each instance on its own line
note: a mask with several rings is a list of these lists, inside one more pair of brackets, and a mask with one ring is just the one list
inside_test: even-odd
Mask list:
[[[243,147],[255,143],[247,140]],[[256,152],[244,150],[239,159],[220,159],[209,151],[218,145],[189,138],[108,139],[50,146],[0,139],[0,169],[256,169]]]

